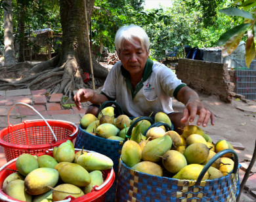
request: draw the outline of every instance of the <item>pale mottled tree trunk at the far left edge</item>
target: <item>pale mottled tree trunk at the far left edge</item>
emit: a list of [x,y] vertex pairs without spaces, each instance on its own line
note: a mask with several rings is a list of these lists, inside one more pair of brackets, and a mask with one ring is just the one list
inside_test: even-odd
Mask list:
[[13,24],[12,24],[12,1],[3,0],[3,3],[8,5],[3,9],[3,18],[5,21],[5,33],[4,33],[4,43],[5,43],[5,66],[11,66],[15,64],[15,53],[13,45]]

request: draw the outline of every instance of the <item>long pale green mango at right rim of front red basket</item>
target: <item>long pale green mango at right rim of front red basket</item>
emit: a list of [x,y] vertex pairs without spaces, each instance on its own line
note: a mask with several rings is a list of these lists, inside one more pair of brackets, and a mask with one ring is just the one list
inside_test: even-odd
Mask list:
[[114,165],[112,159],[101,153],[91,152],[80,155],[77,158],[77,164],[81,165],[88,172],[104,171],[111,169]]

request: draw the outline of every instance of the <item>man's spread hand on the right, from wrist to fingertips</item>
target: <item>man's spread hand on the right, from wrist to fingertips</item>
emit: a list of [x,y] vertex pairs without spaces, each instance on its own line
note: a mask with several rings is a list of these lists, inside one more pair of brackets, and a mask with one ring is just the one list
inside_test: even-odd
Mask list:
[[194,119],[196,119],[196,115],[199,115],[198,121],[196,122],[198,126],[202,124],[203,127],[206,127],[209,119],[211,119],[211,125],[215,125],[215,115],[198,101],[188,102],[186,104],[181,123],[186,123],[186,121],[193,123]]

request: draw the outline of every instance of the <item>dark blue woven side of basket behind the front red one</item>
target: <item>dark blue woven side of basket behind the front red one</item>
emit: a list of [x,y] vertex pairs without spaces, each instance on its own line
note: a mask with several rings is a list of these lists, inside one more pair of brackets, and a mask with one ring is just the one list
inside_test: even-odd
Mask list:
[[[75,148],[84,148],[85,150],[96,151],[98,153],[102,153],[107,157],[110,157],[114,162],[113,169],[116,173],[118,172],[119,159],[121,155],[121,148],[123,147],[123,142],[119,142],[117,140],[106,140],[105,138],[100,138],[98,136],[94,136],[88,132],[85,132],[81,129],[79,125],[77,138],[75,140]],[[114,181],[112,187],[106,193],[105,201],[114,201],[116,198],[116,185],[117,178]]]

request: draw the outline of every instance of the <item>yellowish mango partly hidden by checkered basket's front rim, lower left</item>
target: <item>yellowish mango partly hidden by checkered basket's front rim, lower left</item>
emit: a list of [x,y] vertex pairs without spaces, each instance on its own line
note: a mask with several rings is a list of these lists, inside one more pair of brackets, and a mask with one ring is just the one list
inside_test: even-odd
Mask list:
[[163,169],[161,166],[151,161],[141,161],[131,167],[131,169],[156,176],[163,176]]

